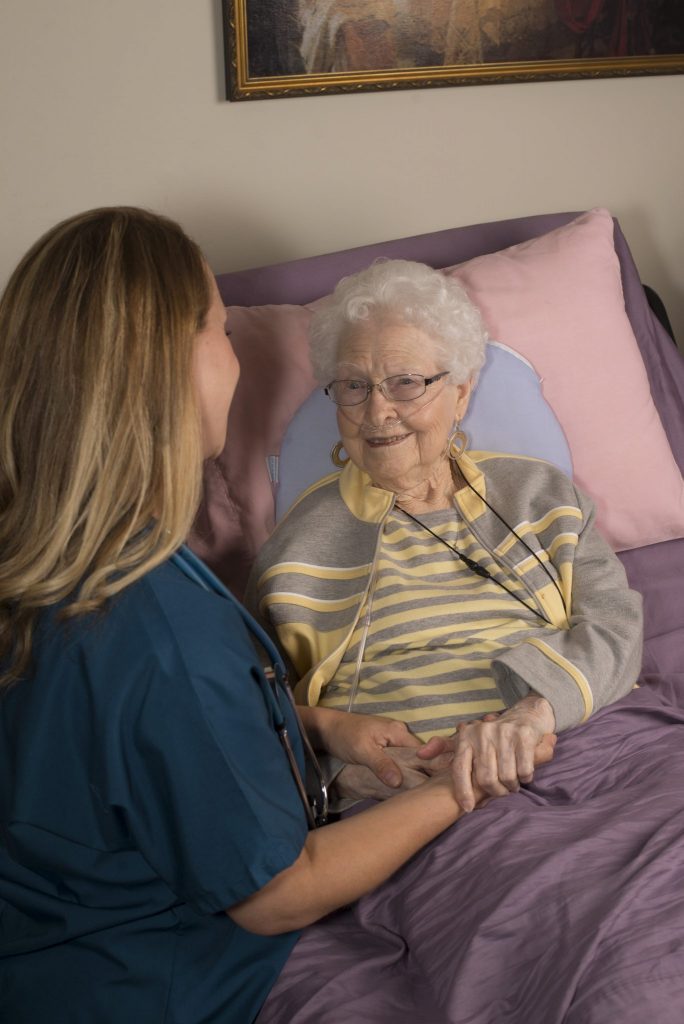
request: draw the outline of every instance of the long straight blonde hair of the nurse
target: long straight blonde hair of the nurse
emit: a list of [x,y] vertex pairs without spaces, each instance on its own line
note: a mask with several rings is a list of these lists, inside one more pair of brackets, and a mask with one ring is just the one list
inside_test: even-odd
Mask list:
[[208,269],[173,221],[92,210],[27,253],[0,300],[0,687],[42,608],[71,617],[183,542],[201,495],[194,339]]

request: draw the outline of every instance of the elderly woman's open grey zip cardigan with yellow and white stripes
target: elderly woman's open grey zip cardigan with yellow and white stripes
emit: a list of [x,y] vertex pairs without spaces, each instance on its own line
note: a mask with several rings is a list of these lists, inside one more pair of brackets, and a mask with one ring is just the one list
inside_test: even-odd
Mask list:
[[[551,703],[558,731],[574,726],[636,682],[641,597],[597,531],[592,503],[554,466],[484,452],[462,456],[459,467],[474,488],[457,493],[461,514],[555,627],[495,658],[501,696],[510,707],[533,690]],[[349,463],[305,492],[259,553],[246,603],[287,652],[302,703],[317,703],[337,670],[372,587],[393,502]]]

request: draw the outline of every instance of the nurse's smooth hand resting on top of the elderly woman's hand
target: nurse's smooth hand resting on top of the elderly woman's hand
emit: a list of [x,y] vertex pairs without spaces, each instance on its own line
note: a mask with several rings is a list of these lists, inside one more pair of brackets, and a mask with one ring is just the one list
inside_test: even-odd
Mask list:
[[[315,749],[326,751],[348,765],[369,769],[384,786],[393,791],[401,787],[404,769],[400,766],[400,758],[394,756],[389,748],[405,748],[415,752],[423,745],[409,732],[403,722],[391,718],[354,715],[331,708],[298,710]],[[416,767],[421,767],[421,763],[416,761]]]

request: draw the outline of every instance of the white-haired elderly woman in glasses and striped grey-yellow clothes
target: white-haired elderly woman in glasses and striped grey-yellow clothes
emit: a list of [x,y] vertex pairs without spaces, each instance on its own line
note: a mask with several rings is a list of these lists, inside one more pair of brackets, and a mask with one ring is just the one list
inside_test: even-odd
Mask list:
[[[343,468],[276,528],[248,594],[302,703],[453,737],[466,810],[473,781],[503,796],[530,780],[542,737],[626,694],[641,657],[641,598],[591,502],[545,462],[467,452],[485,341],[462,287],[427,266],[378,262],[338,285],[311,355]],[[391,793],[355,766],[337,783]]]

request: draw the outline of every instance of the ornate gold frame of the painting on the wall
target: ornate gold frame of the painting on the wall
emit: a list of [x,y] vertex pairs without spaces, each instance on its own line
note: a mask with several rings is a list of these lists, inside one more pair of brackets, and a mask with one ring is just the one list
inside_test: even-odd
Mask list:
[[494,85],[578,78],[684,74],[684,53],[634,57],[507,61],[504,63],[384,69],[317,75],[250,78],[247,0],[222,0],[226,98],[276,99],[327,93],[368,92],[450,85]]

